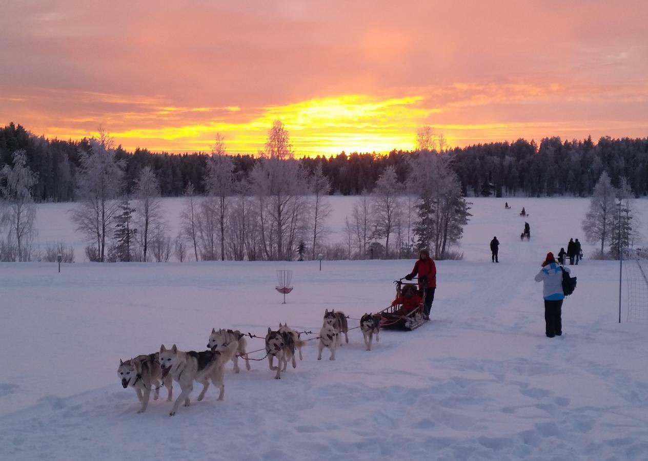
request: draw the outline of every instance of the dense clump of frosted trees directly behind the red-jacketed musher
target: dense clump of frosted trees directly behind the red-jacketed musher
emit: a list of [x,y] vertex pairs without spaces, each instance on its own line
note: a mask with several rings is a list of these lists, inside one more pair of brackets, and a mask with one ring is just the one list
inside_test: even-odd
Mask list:
[[419,196],[414,228],[419,249],[434,251],[435,259],[445,258],[450,245],[461,239],[470,208],[448,157],[420,153],[410,162],[411,186]]

